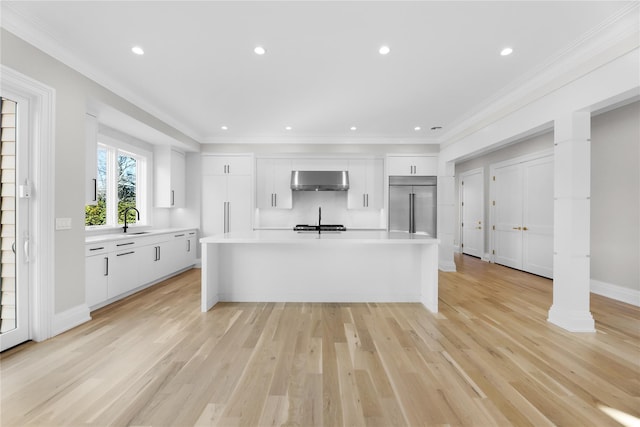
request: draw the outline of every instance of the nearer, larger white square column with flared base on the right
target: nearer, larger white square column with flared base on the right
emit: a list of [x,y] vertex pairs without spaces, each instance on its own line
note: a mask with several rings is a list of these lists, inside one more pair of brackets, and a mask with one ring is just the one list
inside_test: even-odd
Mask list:
[[589,311],[591,114],[556,119],[554,145],[554,279],[548,321],[571,332],[595,332]]

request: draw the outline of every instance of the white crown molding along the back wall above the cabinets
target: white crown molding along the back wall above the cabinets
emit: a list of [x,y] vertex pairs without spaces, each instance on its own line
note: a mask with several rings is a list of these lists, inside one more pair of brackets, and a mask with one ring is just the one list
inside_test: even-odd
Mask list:
[[435,138],[402,138],[402,137],[339,137],[339,136],[238,136],[210,137],[202,140],[203,144],[415,144],[438,145]]

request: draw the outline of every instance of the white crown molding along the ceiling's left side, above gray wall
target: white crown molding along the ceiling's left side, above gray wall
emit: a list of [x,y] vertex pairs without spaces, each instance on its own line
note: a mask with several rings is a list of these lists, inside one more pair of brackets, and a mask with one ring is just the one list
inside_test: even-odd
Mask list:
[[171,114],[158,109],[130,89],[109,77],[106,73],[71,53],[58,39],[46,31],[46,26],[42,22],[39,22],[37,19],[27,18],[15,10],[10,3],[2,2],[1,8],[2,20],[0,21],[0,27],[96,82],[100,86],[103,86],[105,89],[120,96],[127,102],[151,114],[158,120],[163,121],[189,138],[200,141],[201,135],[194,129],[185,126],[184,123],[176,121]]

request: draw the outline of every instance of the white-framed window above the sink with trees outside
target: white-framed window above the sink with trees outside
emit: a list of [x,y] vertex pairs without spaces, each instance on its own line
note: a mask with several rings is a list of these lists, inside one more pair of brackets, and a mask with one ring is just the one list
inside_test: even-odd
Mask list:
[[146,156],[102,142],[97,155],[98,203],[85,207],[85,226],[117,227],[130,207],[140,211],[140,219],[130,210],[127,223],[146,223]]

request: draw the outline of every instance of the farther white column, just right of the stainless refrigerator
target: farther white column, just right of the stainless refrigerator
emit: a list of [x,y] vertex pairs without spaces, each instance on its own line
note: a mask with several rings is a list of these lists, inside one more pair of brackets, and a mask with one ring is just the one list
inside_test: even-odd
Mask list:
[[438,166],[438,268],[456,271],[453,260],[455,203],[455,165],[453,162]]

